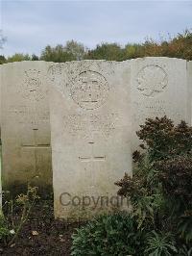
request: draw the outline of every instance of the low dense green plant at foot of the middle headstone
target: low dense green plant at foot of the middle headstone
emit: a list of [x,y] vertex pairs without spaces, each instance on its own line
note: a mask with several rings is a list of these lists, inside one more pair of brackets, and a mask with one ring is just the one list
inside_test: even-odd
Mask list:
[[77,229],[71,255],[142,255],[143,234],[125,213],[101,216]]

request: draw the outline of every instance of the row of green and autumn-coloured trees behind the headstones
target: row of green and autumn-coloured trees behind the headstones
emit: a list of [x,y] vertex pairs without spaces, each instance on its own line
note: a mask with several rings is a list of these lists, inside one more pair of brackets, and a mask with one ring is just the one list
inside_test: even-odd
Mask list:
[[[0,48],[6,38],[0,31]],[[97,44],[94,49],[89,49],[83,43],[75,40],[68,40],[65,44],[58,44],[53,47],[47,45],[41,52],[40,57],[36,55],[24,55],[16,53],[9,57],[6,62],[37,61],[64,63],[81,60],[107,60],[107,61],[125,61],[147,56],[179,58],[192,61],[192,30],[185,30],[176,37],[147,38],[143,43],[127,43],[121,46],[118,43]],[[0,64],[5,63],[3,57],[0,58]]]

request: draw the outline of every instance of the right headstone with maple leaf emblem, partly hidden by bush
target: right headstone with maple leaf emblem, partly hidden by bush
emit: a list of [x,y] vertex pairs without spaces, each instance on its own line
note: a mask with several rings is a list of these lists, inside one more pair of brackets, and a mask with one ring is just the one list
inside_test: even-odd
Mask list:
[[176,123],[190,122],[186,61],[147,57],[132,60],[132,150],[139,141],[135,131],[147,117],[164,116]]

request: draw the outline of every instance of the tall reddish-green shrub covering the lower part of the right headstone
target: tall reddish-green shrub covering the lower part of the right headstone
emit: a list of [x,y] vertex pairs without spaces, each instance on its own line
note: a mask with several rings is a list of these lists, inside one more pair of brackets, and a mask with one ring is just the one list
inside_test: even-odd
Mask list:
[[174,125],[166,116],[148,118],[137,135],[145,151],[133,153],[132,177],[126,174],[115,183],[118,194],[130,198],[132,215],[146,233],[170,232],[177,236],[178,246],[188,246],[192,241],[192,127],[184,121]]

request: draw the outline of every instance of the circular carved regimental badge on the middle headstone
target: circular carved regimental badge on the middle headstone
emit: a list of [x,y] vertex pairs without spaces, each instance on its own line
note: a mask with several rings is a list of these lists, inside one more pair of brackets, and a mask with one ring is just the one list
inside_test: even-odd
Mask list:
[[107,100],[109,93],[106,78],[92,70],[80,73],[71,86],[73,100],[85,110],[101,107]]

